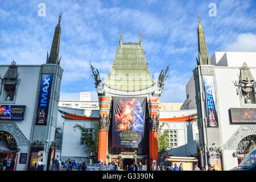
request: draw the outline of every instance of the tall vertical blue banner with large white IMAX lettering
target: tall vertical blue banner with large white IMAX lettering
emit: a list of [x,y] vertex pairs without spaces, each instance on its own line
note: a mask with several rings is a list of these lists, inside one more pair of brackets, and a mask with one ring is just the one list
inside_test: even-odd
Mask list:
[[38,111],[36,113],[36,125],[47,125],[49,97],[51,95],[53,75],[42,75],[39,92]]

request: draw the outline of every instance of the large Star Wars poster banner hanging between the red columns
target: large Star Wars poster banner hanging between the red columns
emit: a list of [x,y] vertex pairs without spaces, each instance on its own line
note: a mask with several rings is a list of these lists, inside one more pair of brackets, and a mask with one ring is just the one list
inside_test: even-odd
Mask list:
[[113,147],[142,147],[145,139],[146,97],[114,97],[112,113]]

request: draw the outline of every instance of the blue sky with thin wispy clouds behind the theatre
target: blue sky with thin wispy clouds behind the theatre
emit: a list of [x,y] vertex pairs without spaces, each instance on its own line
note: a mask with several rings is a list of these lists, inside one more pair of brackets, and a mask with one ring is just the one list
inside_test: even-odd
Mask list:
[[[46,16],[39,16],[39,3]],[[210,3],[217,16],[209,16]],[[196,67],[197,14],[204,27],[207,51],[256,52],[256,1],[0,1],[0,64],[44,64],[51,50],[59,12],[60,56],[64,69],[61,100],[79,100],[92,92],[97,100],[89,60],[108,74],[123,42],[139,42],[143,34],[152,75],[170,64],[161,102],[183,102],[185,85]],[[255,60],[256,61],[256,60]],[[153,77],[154,78],[154,77]]]

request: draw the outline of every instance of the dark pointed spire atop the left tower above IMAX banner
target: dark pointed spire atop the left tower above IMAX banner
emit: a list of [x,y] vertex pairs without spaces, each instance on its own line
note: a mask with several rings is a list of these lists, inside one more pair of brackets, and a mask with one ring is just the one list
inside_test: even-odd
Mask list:
[[52,64],[59,64],[59,50],[60,50],[60,20],[61,20],[62,13],[59,14],[59,23],[55,27],[55,32],[53,35],[53,40],[52,40],[52,48],[50,55],[48,57],[48,52],[47,52],[47,61],[46,63],[52,63]]

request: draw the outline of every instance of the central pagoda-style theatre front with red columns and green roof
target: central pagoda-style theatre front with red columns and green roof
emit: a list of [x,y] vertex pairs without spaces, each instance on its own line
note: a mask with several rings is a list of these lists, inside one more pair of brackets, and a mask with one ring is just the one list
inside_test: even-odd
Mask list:
[[[67,134],[70,135],[72,132],[68,128],[73,128],[71,126],[81,123],[90,129],[92,128],[90,122],[99,122],[98,160],[102,160],[103,163],[115,161],[121,169],[125,169],[127,165],[134,162],[141,162],[146,166],[146,169],[150,169],[154,160],[158,164],[159,122],[177,122],[176,128],[175,126],[170,128],[175,130],[174,136],[176,138],[171,139],[175,141],[179,129],[187,132],[188,125],[184,125],[185,122],[196,121],[195,109],[180,111],[180,114],[163,112],[161,117],[159,102],[169,67],[167,66],[166,69],[160,71],[157,82],[152,80],[142,47],[142,36],[139,36],[139,43],[122,43],[122,34],[119,36],[119,46],[113,67],[105,81],[101,80],[100,73],[93,65],[90,65],[90,67],[98,93],[99,110],[96,111],[98,115],[95,115],[95,111],[92,111],[91,115],[83,117],[78,114],[81,111],[59,107],[60,114],[65,118],[60,154],[63,157],[61,160],[67,159],[67,154],[72,153],[64,146],[65,141],[72,143],[71,139],[68,139],[70,137],[66,137]],[[172,118],[171,115],[176,115],[177,118]],[[191,154],[196,154],[195,130],[196,126],[193,125],[192,129],[192,124],[189,125],[189,136],[192,136],[191,139],[194,142],[190,147],[193,149],[189,151],[188,147]],[[179,135],[182,134],[179,132]],[[171,133],[170,136],[172,136]],[[180,137],[180,143],[183,143],[181,138],[185,137]],[[75,143],[73,142],[73,144]],[[172,144],[173,147],[178,147],[177,141]],[[76,145],[81,148],[78,142]],[[187,141],[184,142],[184,145],[187,145]],[[187,156],[183,152],[179,151],[177,153]],[[81,156],[77,151],[73,151],[73,154]]]

